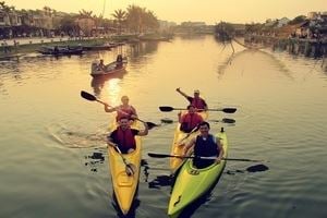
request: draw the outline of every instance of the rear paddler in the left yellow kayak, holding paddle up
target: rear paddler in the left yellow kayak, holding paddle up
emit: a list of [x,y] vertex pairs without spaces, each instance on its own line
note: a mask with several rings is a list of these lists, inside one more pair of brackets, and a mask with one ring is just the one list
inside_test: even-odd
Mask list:
[[117,111],[117,121],[119,121],[122,117],[128,117],[130,119],[137,118],[136,109],[129,104],[130,99],[128,96],[121,97],[121,105],[117,107],[111,107],[109,105],[105,105],[106,112],[114,112]]

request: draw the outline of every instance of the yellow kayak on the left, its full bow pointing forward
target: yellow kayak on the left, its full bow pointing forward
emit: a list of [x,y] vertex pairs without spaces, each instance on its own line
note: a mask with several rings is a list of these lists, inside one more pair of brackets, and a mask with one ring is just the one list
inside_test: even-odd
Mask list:
[[[114,121],[110,126],[110,131],[116,130],[116,128],[117,123]],[[131,128],[138,130],[138,122],[134,121]],[[130,154],[122,154],[126,162],[135,166],[135,171],[132,175],[126,174],[125,164],[120,154],[112,146],[108,146],[108,160],[113,192],[123,215],[126,215],[131,208],[140,179],[142,142],[140,136],[135,136],[135,141],[136,149]]]

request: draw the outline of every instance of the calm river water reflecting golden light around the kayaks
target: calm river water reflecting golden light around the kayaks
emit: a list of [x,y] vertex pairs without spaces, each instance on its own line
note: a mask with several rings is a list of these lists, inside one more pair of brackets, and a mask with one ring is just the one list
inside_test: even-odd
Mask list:
[[[249,50],[213,36],[175,37],[170,43],[124,46],[126,72],[93,80],[96,58],[112,61],[120,49],[59,59],[28,55],[0,62],[0,217],[118,217],[105,143],[113,114],[81,90],[118,105],[130,97],[141,119],[177,121],[159,106],[185,107],[199,89],[209,108],[235,107],[233,114],[210,112],[229,137],[228,161],[207,197],[191,217],[327,217],[327,72],[322,60],[281,51]],[[162,123],[143,140],[138,195],[132,217],[167,217],[168,159],[175,122]],[[251,168],[250,168],[251,169]],[[325,205],[325,206],[324,206]]]

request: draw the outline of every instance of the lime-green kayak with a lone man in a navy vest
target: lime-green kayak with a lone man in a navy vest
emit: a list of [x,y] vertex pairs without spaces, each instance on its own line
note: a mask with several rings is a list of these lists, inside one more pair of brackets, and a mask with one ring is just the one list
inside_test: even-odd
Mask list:
[[[223,129],[216,136],[220,138],[225,150],[223,157],[227,158],[228,142]],[[187,159],[175,178],[168,215],[178,217],[187,205],[203,196],[217,182],[225,165],[226,160],[221,160],[218,165],[214,164],[207,168],[197,169],[193,167],[193,159]]]

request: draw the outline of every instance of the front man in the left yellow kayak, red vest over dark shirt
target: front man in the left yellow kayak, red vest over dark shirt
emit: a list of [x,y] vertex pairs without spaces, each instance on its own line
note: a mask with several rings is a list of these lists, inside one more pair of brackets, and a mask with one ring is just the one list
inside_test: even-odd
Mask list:
[[119,125],[117,129],[107,137],[108,144],[114,143],[118,145],[122,154],[129,154],[135,150],[135,135],[144,136],[148,133],[148,126],[146,122],[143,122],[144,130],[136,130],[131,128],[130,121],[130,118],[121,117],[118,121]]

